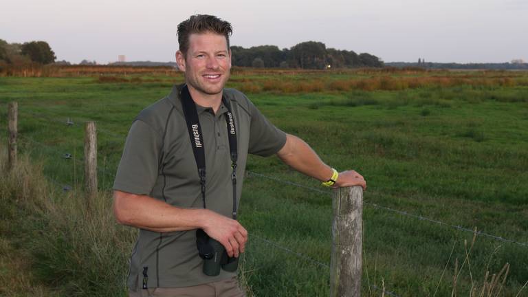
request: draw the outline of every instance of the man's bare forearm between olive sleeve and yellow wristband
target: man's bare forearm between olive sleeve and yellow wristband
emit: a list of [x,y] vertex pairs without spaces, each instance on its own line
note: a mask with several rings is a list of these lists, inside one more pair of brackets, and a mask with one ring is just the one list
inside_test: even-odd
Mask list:
[[295,135],[287,134],[285,146],[277,153],[287,165],[300,173],[327,181],[332,176],[330,166],[322,162],[317,153],[303,140]]

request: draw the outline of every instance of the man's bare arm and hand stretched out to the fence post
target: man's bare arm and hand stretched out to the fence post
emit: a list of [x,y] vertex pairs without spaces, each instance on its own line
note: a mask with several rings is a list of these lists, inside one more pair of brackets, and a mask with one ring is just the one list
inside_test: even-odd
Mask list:
[[[328,181],[333,175],[330,166],[322,162],[317,153],[299,137],[286,135],[286,143],[278,151],[277,156],[295,170],[314,177],[320,181]],[[334,187],[362,186],[366,190],[366,181],[355,170],[346,170],[339,173]]]

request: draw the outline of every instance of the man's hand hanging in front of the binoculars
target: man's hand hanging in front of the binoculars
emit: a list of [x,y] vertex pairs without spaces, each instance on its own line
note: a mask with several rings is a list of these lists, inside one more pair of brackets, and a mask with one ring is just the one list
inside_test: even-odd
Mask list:
[[238,257],[245,250],[248,231],[234,219],[208,210],[203,231],[221,243],[230,257]]

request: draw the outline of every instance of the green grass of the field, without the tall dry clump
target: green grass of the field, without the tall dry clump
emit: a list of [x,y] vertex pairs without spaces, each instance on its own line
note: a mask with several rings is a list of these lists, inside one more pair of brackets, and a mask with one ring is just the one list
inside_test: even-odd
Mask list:
[[[381,81],[400,86],[397,82],[402,79],[438,76],[457,83],[382,84],[369,91],[365,90],[369,87],[343,91],[329,87],[334,80],[372,83],[382,77]],[[135,115],[182,80],[181,76],[142,76],[130,81],[0,78],[3,135],[7,103],[17,101],[21,153],[41,160],[43,172],[58,182],[56,186],[75,189],[83,184],[84,122],[95,120],[100,188],[109,189]],[[323,83],[309,92],[303,87],[294,91],[266,87],[278,80],[291,85]],[[303,138],[327,164],[338,170],[353,168],[365,177],[369,186],[363,217],[365,296],[382,296],[375,289],[382,287],[397,296],[451,296],[453,290],[461,296],[480,296],[486,272],[489,282],[506,263],[509,271],[503,287],[501,278],[494,292],[483,296],[519,292],[518,296],[525,296],[528,290],[521,288],[528,281],[527,81],[528,74],[522,72],[241,72],[232,76],[228,86],[247,91],[276,126]],[[67,125],[67,119],[74,124]],[[247,169],[259,174],[245,179],[240,210],[240,221],[250,232],[242,270],[250,291],[254,296],[327,296],[331,195],[318,191],[327,189],[276,157],[250,157]],[[471,232],[386,208],[476,228],[517,243],[476,236],[472,244]],[[129,246],[130,232],[119,230],[125,234],[121,245]],[[39,270],[38,256],[34,261],[36,270],[47,274],[37,278],[54,278],[53,270]],[[115,275],[126,273],[126,263],[113,265],[118,265],[113,268]],[[91,268],[96,274],[96,267]],[[456,285],[455,270],[459,272]],[[88,296],[75,291],[75,279],[67,279],[69,283],[52,283],[52,287]],[[120,279],[103,283],[122,285]],[[98,292],[115,296],[103,294],[103,288]]]

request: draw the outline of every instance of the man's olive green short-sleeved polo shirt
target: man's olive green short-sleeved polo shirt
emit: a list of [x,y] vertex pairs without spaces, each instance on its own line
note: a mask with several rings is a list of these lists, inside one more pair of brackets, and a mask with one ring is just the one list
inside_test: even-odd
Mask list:
[[[202,208],[200,180],[179,99],[180,89],[175,86],[168,96],[137,115],[126,137],[113,189],[148,195],[179,208]],[[277,153],[284,146],[286,135],[241,92],[224,89],[223,96],[230,102],[236,126],[236,197],[240,201],[248,153]],[[216,114],[211,108],[197,105],[206,155],[206,205],[231,217],[232,169],[226,111],[223,103]],[[129,287],[141,287],[145,269],[148,287],[186,287],[234,276],[236,273],[223,270],[219,276],[203,274],[195,233],[196,230],[140,230],[131,256]]]

